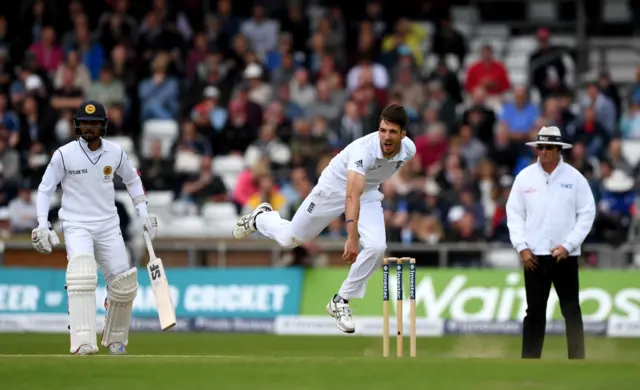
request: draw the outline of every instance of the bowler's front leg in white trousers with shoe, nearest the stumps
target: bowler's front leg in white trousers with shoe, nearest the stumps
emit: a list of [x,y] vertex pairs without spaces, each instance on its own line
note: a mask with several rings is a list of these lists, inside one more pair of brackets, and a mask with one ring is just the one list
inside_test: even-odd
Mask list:
[[363,298],[367,282],[380,266],[387,250],[387,238],[384,215],[380,201],[365,201],[360,204],[360,252],[351,264],[347,279],[342,283],[338,294],[327,304],[329,315],[336,318],[338,329],[346,333],[355,332],[349,300]]

